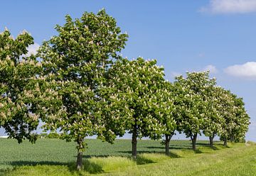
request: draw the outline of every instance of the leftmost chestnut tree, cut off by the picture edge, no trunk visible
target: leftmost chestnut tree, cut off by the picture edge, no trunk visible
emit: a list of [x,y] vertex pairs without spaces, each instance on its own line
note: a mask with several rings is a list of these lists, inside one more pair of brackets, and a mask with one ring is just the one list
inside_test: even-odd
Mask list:
[[32,44],[33,38],[26,31],[15,39],[7,29],[0,33],[0,126],[18,143],[25,138],[35,142],[33,131],[39,122],[35,97],[30,92],[41,65],[33,55],[26,57]]

